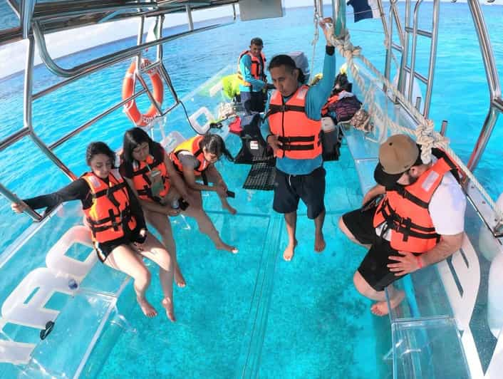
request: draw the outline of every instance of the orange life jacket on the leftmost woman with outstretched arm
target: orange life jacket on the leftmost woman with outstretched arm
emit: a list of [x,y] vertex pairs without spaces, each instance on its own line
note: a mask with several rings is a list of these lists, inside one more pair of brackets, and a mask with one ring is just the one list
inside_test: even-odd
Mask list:
[[129,230],[135,229],[126,183],[118,170],[110,171],[108,184],[92,172],[82,177],[93,197],[93,204],[84,209],[84,214],[94,241],[103,243],[123,237],[126,225]]

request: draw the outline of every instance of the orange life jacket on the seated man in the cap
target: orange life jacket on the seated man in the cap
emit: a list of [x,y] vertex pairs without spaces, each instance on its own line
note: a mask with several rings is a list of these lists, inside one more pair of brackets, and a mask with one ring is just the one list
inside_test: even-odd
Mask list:
[[428,206],[442,177],[450,171],[457,180],[459,175],[457,165],[445,152],[433,150],[436,150],[434,155],[439,157],[437,162],[412,185],[386,191],[375,211],[373,226],[386,222],[384,228],[390,229],[393,249],[425,253],[440,242],[440,234],[435,231]]

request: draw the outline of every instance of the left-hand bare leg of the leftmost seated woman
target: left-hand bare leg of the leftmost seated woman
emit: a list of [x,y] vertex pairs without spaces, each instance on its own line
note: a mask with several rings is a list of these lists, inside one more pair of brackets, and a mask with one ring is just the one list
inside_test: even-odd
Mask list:
[[147,317],[157,316],[157,311],[145,297],[145,291],[150,286],[150,271],[148,271],[140,256],[130,246],[120,245],[115,247],[108,255],[105,264],[131,276],[135,281],[133,287],[136,292],[136,299],[143,313]]

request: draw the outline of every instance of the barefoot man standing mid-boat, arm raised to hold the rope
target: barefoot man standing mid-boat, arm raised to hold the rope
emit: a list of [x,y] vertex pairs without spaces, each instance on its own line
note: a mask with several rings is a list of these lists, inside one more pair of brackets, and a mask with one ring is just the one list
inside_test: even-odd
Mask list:
[[330,18],[320,26],[326,37],[323,78],[316,85],[304,85],[304,73],[285,55],[272,58],[269,72],[276,90],[271,94],[262,124],[262,135],[276,159],[273,209],[283,213],[289,243],[283,258],[294,256],[299,199],[307,206],[307,217],[314,219],[314,250],[325,249],[325,170],[321,156],[321,108],[326,103],[336,76],[335,48],[330,42]]

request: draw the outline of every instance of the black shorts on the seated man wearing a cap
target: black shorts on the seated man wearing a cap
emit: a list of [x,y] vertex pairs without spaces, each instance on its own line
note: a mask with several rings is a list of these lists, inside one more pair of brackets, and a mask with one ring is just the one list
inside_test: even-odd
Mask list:
[[343,222],[359,242],[372,245],[361,261],[358,272],[375,291],[384,291],[393,281],[401,278],[401,276],[395,276],[388,269],[388,264],[396,263],[390,261],[388,256],[400,254],[390,246],[390,242],[375,234],[374,214],[375,208],[365,212],[356,209],[353,212],[343,214]]

